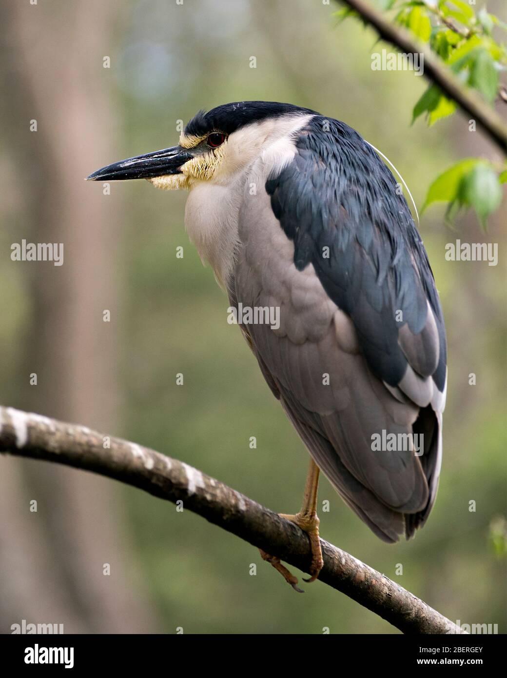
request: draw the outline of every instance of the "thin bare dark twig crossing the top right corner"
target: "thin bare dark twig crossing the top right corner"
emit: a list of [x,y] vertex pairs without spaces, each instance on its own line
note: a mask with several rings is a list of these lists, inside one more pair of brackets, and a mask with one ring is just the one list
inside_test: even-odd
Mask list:
[[422,43],[414,41],[401,26],[396,26],[372,7],[367,0],[338,0],[357,12],[367,24],[376,29],[386,42],[399,47],[405,54],[424,55],[424,75],[438,85],[447,98],[452,99],[468,113],[503,153],[507,150],[507,124],[500,115],[488,106],[470,87],[460,83],[452,71]]

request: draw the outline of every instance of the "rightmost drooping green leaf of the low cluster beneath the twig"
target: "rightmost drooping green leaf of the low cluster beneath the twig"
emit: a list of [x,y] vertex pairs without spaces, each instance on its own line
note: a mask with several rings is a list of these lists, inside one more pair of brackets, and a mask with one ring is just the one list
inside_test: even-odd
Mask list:
[[473,207],[483,226],[487,217],[502,202],[502,188],[496,173],[485,163],[478,163],[460,184],[458,199],[462,205]]

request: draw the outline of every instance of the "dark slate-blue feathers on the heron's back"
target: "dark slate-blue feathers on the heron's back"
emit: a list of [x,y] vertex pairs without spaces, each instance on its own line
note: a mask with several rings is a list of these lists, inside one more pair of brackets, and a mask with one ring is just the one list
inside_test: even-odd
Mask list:
[[[296,267],[313,264],[329,297],[352,318],[371,370],[391,386],[407,367],[398,332],[405,323],[413,334],[421,332],[428,299],[440,339],[433,379],[442,391],[443,315],[399,184],[371,146],[340,121],[315,115],[296,146],[293,162],[266,182],[272,210],[294,243]],[[397,311],[403,311],[401,322]]]

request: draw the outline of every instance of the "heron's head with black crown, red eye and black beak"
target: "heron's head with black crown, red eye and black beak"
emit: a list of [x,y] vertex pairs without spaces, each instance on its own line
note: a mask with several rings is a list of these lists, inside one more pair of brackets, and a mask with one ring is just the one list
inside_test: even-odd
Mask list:
[[291,134],[315,111],[291,104],[242,101],[200,111],[178,146],[127,158],[98,169],[94,181],[147,179],[157,188],[191,188],[195,182],[228,184],[264,149]]

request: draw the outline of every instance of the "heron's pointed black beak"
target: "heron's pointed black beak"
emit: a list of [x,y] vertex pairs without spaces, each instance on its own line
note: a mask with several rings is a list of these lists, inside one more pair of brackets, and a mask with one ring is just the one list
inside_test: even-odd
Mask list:
[[148,179],[166,174],[181,174],[180,167],[193,155],[182,146],[164,148],[162,151],[120,160],[119,163],[98,169],[87,181],[117,181],[119,179]]

